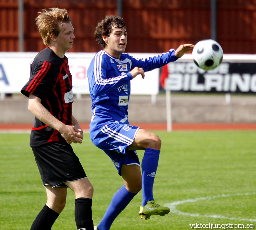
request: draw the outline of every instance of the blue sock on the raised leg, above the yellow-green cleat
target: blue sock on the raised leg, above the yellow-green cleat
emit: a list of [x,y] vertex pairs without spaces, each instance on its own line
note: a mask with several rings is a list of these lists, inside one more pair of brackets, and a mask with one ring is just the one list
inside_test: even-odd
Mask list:
[[148,200],[153,198],[153,184],[155,173],[157,172],[160,150],[145,149],[142,159],[142,206],[147,204]]

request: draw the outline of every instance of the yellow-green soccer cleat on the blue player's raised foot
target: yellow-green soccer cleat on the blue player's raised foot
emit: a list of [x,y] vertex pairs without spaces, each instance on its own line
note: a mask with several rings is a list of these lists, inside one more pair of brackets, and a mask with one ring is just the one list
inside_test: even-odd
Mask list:
[[142,207],[140,206],[140,218],[145,218],[146,220],[150,218],[152,215],[164,216],[170,212],[170,208],[160,206],[155,203],[154,200],[148,200],[147,204]]

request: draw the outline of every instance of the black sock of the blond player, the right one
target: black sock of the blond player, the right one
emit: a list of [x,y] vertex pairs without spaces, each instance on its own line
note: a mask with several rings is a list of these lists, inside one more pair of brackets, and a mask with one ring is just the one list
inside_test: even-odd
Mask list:
[[90,198],[75,199],[75,220],[78,230],[93,230],[92,201]]

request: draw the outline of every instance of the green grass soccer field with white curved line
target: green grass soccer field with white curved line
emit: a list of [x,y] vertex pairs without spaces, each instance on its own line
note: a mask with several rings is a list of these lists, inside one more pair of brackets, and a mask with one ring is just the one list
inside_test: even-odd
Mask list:
[[[154,198],[170,206],[171,212],[147,221],[140,219],[139,192],[111,230],[186,230],[192,229],[194,223],[201,223],[205,229],[210,229],[203,225],[208,223],[221,225],[218,229],[225,229],[229,223],[235,225],[233,229],[238,224],[255,229],[256,131],[155,133],[162,140],[162,149]],[[29,134],[2,133],[0,139],[0,229],[28,230],[46,202]],[[91,143],[89,134],[84,134],[82,144],[72,146],[94,186],[96,225],[123,182],[110,159]],[[142,160],[143,151],[138,155]],[[74,194],[70,189],[66,207],[52,229],[76,229]]]

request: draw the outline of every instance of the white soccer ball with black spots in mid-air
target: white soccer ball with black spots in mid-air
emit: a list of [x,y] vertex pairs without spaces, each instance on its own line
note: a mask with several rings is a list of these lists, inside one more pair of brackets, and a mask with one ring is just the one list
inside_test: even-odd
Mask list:
[[212,39],[202,40],[196,43],[192,57],[194,63],[201,69],[214,69],[222,62],[223,50],[218,42]]

